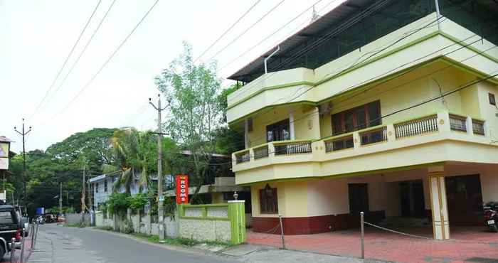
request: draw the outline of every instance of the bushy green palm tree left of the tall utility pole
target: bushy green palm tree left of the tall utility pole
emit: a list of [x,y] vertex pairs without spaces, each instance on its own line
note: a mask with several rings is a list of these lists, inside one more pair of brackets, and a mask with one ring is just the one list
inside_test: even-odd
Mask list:
[[[155,154],[152,132],[138,132],[134,128],[116,130],[111,138],[117,166],[121,176],[115,182],[115,190],[122,189],[130,193],[135,179],[139,180],[140,190],[149,188],[150,171],[154,169]],[[136,178],[136,176],[139,178]]]

